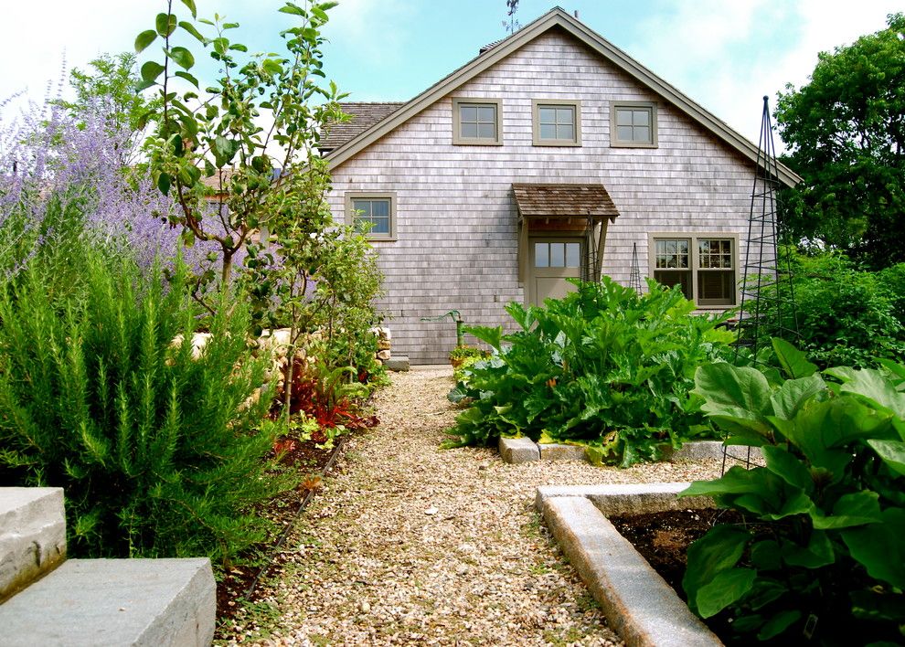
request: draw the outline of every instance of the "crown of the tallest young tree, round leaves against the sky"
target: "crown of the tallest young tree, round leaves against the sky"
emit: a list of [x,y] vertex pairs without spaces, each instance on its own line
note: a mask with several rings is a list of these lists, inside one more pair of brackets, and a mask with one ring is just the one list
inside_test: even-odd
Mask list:
[[[173,0],[166,0],[166,11],[138,35],[135,49],[161,46],[141,68],[140,89],[154,88],[160,99],[145,115],[159,124],[148,144],[151,174],[178,203],[171,224],[183,229],[186,246],[208,241],[214,249],[208,260],[219,261],[219,276],[208,268],[198,277],[204,288],[211,281],[229,284],[237,255],[260,245],[256,232],[287,199],[306,199],[292,192],[309,184],[287,178],[311,167],[319,133],[342,119],[337,101],[344,95],[325,83],[322,69],[321,28],[335,2],[282,6],[282,14],[297,20],[281,32],[285,55],[249,55],[229,37],[237,23],[216,14],[199,19],[194,0],[180,2],[191,19],[177,16]],[[209,49],[219,65],[219,79],[203,90],[192,74],[191,43]]]

